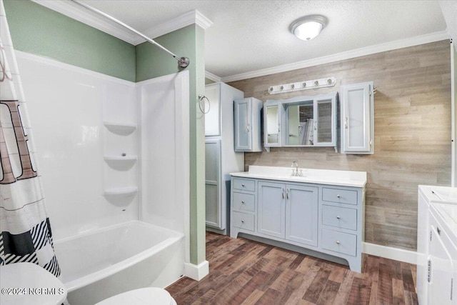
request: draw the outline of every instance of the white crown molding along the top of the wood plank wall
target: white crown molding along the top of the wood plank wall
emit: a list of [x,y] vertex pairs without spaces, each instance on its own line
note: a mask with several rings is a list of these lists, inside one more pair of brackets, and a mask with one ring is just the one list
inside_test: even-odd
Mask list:
[[232,76],[221,77],[221,81],[228,83],[230,81],[241,81],[243,79],[251,79],[258,76],[266,76],[270,74],[276,74],[281,72],[292,71],[296,69],[308,68],[310,66],[318,66],[321,64],[329,64],[335,61],[342,61],[346,59],[353,59],[360,56],[366,56],[376,54],[384,51],[391,51],[395,49],[406,48],[408,46],[418,46],[420,44],[428,44],[430,42],[440,41],[449,39],[450,36],[446,31],[439,31],[431,34],[415,36],[408,39],[400,39],[396,41],[389,41],[384,44],[376,44],[374,46],[368,46],[366,48],[354,49],[351,51],[345,51],[338,54],[318,57],[316,59],[309,59],[306,61],[298,61],[292,64],[284,64],[281,66],[274,66],[272,68],[260,69],[256,71],[250,71],[246,73],[236,74]]

